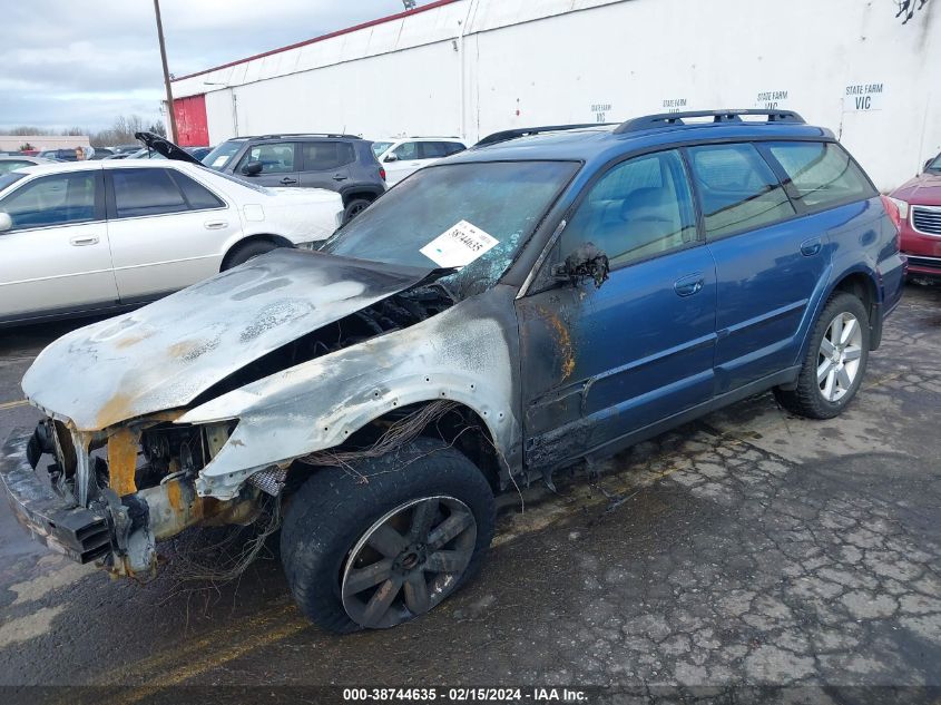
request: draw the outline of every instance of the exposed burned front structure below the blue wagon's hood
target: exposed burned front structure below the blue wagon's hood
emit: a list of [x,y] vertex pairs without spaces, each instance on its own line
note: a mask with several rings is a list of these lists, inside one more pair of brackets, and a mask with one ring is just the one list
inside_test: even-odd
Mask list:
[[17,517],[52,550],[139,579],[156,574],[157,541],[195,525],[252,521],[256,486],[225,501],[200,497],[195,486],[234,423],[177,425],[173,415],[100,432],[47,418],[32,432],[14,432],[0,478]]

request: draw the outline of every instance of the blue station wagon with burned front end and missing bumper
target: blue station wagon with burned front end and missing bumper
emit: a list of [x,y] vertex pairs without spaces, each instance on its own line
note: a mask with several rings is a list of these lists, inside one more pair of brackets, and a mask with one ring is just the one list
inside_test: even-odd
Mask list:
[[474,571],[501,489],[757,392],[852,401],[905,265],[829,130],[733,110],[484,143],[321,252],[47,347],[22,382],[47,419],[0,457],[21,520],[146,578],[189,527],[283,516],[302,610],[391,627]]

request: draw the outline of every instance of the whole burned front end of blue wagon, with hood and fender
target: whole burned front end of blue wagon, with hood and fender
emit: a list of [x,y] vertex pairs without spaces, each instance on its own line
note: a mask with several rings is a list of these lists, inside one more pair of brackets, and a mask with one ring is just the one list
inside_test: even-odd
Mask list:
[[22,382],[46,419],[0,456],[18,518],[146,579],[159,541],[252,522],[305,458],[424,403],[461,405],[512,460],[512,292],[455,305],[439,276],[275,251],[59,339]]

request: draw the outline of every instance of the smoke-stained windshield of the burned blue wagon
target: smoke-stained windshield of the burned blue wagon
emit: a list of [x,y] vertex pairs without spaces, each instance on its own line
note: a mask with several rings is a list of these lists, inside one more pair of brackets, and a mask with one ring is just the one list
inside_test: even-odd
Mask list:
[[459,298],[471,296],[497,283],[578,167],[574,161],[425,167],[350,221],[321,249],[357,260],[439,267],[419,251],[464,221],[497,241],[440,280]]

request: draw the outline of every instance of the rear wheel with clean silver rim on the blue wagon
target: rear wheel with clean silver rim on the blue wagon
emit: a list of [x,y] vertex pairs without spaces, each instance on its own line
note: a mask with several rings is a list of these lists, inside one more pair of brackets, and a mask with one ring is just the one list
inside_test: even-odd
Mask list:
[[869,315],[862,302],[837,292],[814,324],[797,386],[776,388],[787,411],[808,419],[832,419],[856,395],[869,361]]

